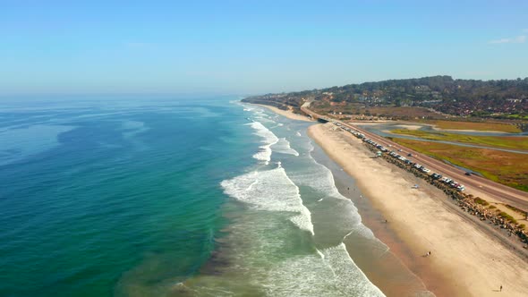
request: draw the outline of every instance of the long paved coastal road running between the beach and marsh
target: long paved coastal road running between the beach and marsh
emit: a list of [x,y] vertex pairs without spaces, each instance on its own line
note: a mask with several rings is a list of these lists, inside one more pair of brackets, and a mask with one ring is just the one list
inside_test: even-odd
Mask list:
[[[324,117],[322,115],[314,113],[313,111],[304,106],[301,109],[304,113],[311,115],[314,118],[328,119],[328,117]],[[386,138],[381,137],[377,134],[364,131],[353,124],[343,123],[334,119],[332,119],[332,121],[339,122],[348,128],[362,132],[363,134],[365,134],[365,137],[378,142],[384,147],[389,147],[390,145],[392,148],[402,149],[402,151],[400,152],[400,155],[402,156],[406,157],[406,155],[409,153],[413,154],[413,157],[408,158],[413,159],[414,162],[419,163],[420,165],[424,165],[425,167],[429,168],[432,172],[448,176],[456,182],[464,184],[467,191],[470,193],[472,191],[480,191],[490,196],[491,199],[507,203],[511,206],[514,206],[515,208],[523,209],[524,211],[528,211],[528,193],[524,191],[516,190],[504,184],[490,181],[478,175],[465,175],[465,172],[463,170],[458,169],[453,165],[448,165],[442,161],[439,161],[438,159],[425,156],[422,153],[418,153],[411,148],[406,148],[402,145],[397,144],[396,142],[387,140]]]

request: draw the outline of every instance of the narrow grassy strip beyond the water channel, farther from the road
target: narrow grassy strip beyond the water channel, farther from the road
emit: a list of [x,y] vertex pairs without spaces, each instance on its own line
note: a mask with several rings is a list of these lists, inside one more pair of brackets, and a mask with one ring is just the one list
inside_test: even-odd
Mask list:
[[528,149],[528,136],[473,136],[448,132],[426,132],[421,130],[406,129],[397,129],[391,132],[400,135],[418,137],[423,140],[453,141],[496,148]]

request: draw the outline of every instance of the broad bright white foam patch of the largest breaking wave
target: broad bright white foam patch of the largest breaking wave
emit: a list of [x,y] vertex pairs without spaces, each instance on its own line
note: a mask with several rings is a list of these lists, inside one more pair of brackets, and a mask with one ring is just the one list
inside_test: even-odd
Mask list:
[[[313,234],[311,213],[302,204],[299,188],[280,165],[267,171],[254,171],[221,183],[227,195],[267,211],[295,213],[290,221]],[[278,191],[280,189],[280,191]]]

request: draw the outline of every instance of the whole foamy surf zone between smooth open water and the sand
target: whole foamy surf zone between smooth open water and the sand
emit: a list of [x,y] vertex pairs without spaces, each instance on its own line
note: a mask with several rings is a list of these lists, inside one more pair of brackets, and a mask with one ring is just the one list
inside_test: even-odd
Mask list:
[[[267,153],[266,147],[274,153],[291,149],[289,141],[277,139],[262,123],[248,125],[262,138],[263,154]],[[245,295],[383,296],[355,265],[343,243],[346,240],[348,245],[349,241],[357,239],[355,234],[362,236],[370,230],[361,224],[361,217],[352,201],[336,190],[328,168],[319,165],[310,156],[308,152],[313,149],[310,141],[294,137],[294,131],[291,135],[289,140],[293,141],[294,148],[302,156],[283,156],[288,160],[284,162],[286,168],[280,162],[274,162],[274,169],[253,171],[221,182],[227,195],[250,209],[246,209],[247,215],[241,216],[229,229],[229,236],[232,236],[230,242],[234,242],[230,251],[236,255],[228,270],[232,273],[215,276],[221,281],[211,278],[212,286],[217,289],[219,285],[218,289],[229,290],[228,293],[233,294],[238,293],[236,286],[232,290],[233,286],[224,284],[240,283],[243,290],[258,288],[258,293],[251,291],[252,294],[242,290]],[[271,144],[274,141],[276,143]],[[269,162],[270,156],[271,153],[268,157],[262,156],[262,160]],[[285,169],[288,169],[287,173]],[[298,186],[302,186],[302,198]],[[310,187],[310,190],[304,187]],[[310,209],[303,205],[302,199]],[[319,203],[313,203],[317,199]],[[312,219],[316,223],[317,234],[314,234]],[[291,226],[285,226],[289,223],[285,220],[310,232],[311,241],[307,242],[304,236],[292,236],[297,232]],[[302,235],[308,236],[308,233]],[[298,249],[299,240],[302,240],[302,249]],[[322,249],[323,246],[327,248]],[[283,251],[284,254],[281,254]],[[230,276],[234,276],[233,282],[230,282]],[[200,292],[213,294],[210,290],[201,291],[202,287]],[[214,294],[230,295],[222,292],[216,290]]]

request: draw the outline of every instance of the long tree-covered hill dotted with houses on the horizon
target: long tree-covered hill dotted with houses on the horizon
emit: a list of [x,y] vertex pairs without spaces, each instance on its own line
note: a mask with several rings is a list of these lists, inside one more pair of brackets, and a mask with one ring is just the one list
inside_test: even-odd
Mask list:
[[439,75],[266,94],[243,101],[298,111],[307,100],[313,101],[314,108],[351,114],[370,106],[422,106],[447,115],[523,119],[528,116],[528,78],[476,81]]

